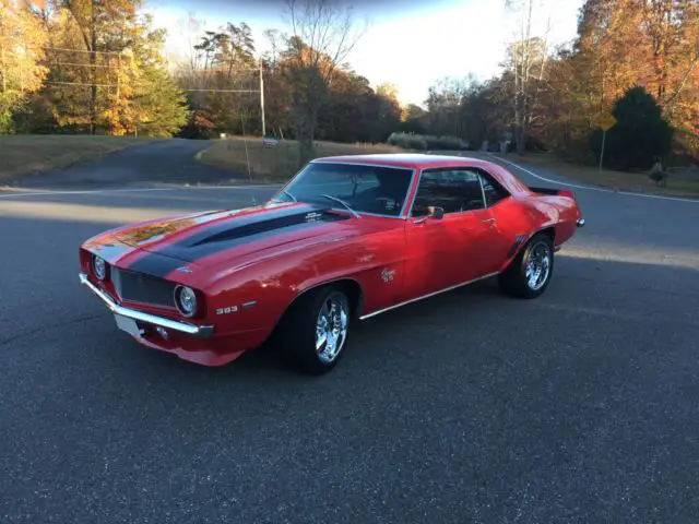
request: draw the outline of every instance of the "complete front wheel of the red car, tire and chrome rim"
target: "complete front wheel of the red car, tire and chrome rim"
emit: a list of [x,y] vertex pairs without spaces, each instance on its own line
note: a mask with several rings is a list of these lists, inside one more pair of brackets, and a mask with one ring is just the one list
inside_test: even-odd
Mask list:
[[322,286],[300,296],[282,321],[277,344],[296,369],[320,374],[335,367],[347,343],[350,298],[340,286]]

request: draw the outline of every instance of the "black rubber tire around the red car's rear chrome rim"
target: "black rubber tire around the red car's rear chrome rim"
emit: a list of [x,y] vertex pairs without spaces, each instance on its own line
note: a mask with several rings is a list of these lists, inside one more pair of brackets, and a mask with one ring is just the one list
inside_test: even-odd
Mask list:
[[[545,252],[548,257],[548,273],[543,283],[538,286],[530,286],[526,277],[526,261],[532,251]],[[548,283],[554,274],[554,246],[548,235],[537,233],[534,235],[526,246],[512,259],[510,265],[498,275],[498,282],[505,293],[517,298],[532,299],[538,297],[548,287]]]

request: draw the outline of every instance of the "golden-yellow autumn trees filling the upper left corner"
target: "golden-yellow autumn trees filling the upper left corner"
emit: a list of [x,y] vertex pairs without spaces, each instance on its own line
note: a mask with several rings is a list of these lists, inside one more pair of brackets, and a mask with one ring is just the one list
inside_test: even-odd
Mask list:
[[0,132],[169,136],[187,121],[140,0],[0,4]]

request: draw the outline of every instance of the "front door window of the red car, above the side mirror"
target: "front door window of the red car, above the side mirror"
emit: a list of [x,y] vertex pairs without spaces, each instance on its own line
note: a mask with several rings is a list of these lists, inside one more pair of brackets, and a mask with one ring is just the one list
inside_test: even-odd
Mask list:
[[424,216],[429,206],[445,213],[461,213],[485,207],[478,175],[464,169],[424,171],[419,179],[412,216]]

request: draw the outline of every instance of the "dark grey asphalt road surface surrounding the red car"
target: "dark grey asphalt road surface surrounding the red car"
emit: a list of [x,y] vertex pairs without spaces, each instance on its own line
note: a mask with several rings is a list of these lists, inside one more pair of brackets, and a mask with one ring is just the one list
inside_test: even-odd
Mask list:
[[699,204],[579,190],[543,297],[377,317],[316,379],[143,348],[76,283],[93,234],[270,192],[0,198],[0,522],[696,522]]

